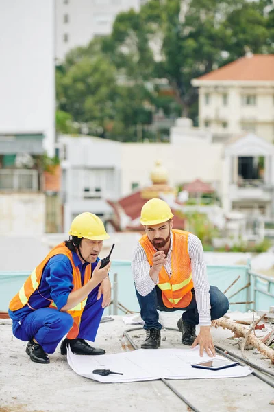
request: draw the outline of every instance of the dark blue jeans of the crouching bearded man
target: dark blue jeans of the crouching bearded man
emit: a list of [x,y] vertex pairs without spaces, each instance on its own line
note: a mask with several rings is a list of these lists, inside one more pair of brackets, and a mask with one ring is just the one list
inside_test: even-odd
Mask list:
[[[166,308],[162,301],[162,290],[160,290],[158,286],[155,286],[147,296],[141,296],[136,289],[136,295],[140,305],[141,318],[145,322],[145,330],[151,328],[162,329],[162,325],[159,323],[159,314],[157,310],[163,312],[184,310],[184,313],[182,314],[183,321],[188,325],[199,324],[199,314],[194,289],[192,289],[192,301],[186,308]],[[229,309],[227,297],[216,286],[210,286],[210,306],[211,320],[219,319]]]

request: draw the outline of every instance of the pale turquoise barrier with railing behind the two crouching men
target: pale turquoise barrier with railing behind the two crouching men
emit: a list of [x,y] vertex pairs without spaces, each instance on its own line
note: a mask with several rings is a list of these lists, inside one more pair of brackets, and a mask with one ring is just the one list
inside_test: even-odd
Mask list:
[[[130,264],[129,260],[112,261],[110,280],[115,304],[115,308],[112,306],[111,309],[113,314],[122,313],[118,310],[121,309],[121,305],[132,312],[140,310]],[[230,310],[240,312],[246,312],[249,309],[269,310],[269,306],[274,306],[274,277],[266,277],[251,271],[249,261],[247,265],[208,265],[207,270],[211,285],[217,286],[222,292],[229,288],[225,295],[229,298]],[[21,288],[29,273],[31,271],[0,272],[0,311],[8,310],[10,299]],[[233,284],[237,278],[238,280]]]

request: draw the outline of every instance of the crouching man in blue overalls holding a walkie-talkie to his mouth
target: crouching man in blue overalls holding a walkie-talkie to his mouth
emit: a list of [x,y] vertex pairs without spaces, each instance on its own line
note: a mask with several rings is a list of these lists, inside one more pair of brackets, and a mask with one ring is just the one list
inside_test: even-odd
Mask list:
[[101,355],[95,341],[103,310],[110,304],[110,263],[100,268],[98,255],[109,236],[95,214],[79,214],[70,240],[54,247],[34,269],[10,301],[9,315],[16,338],[28,341],[26,352],[34,362],[49,363],[58,343],[77,355]]

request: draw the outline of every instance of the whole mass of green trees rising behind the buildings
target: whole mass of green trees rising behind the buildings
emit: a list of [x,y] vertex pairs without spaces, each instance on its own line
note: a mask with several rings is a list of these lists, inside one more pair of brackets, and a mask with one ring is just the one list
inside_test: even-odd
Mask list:
[[148,127],[159,109],[197,124],[192,78],[247,51],[273,53],[273,43],[270,0],[150,0],[116,16],[110,36],[71,50],[57,68],[58,131],[77,124],[136,141],[141,129],[142,139],[161,140]]

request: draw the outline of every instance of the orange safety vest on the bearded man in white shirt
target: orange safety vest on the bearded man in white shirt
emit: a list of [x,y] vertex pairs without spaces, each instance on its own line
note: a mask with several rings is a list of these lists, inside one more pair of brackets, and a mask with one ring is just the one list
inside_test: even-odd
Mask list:
[[[169,277],[164,266],[159,273],[158,286],[162,290],[162,300],[166,308],[186,308],[192,299],[192,273],[191,261],[188,255],[188,232],[182,230],[172,230],[173,249],[171,255],[171,271]],[[152,258],[155,254],[153,244],[147,235],[139,240],[149,264],[153,266]]]

